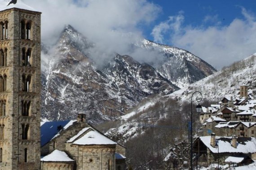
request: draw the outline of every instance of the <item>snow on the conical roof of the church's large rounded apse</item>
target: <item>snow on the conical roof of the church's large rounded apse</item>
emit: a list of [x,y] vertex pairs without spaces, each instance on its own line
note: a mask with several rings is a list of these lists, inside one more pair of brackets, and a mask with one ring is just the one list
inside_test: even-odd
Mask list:
[[110,140],[108,137],[100,134],[99,132],[90,131],[84,136],[80,137],[78,140],[75,140],[73,144],[79,145],[89,145],[89,144],[117,144],[113,140]]

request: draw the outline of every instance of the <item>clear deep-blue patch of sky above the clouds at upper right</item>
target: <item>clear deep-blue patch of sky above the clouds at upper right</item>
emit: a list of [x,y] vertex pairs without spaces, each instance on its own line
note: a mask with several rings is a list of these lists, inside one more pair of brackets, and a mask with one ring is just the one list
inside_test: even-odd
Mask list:
[[[193,27],[219,27],[228,26],[234,19],[244,19],[241,7],[252,13],[256,8],[256,0],[150,0],[159,5],[161,12],[157,19],[144,27],[144,34],[147,39],[154,40],[151,32],[155,25],[183,12],[185,17],[183,25]],[[206,21],[206,17],[212,17]],[[166,35],[168,38],[168,34]],[[163,43],[170,44],[168,41]]]

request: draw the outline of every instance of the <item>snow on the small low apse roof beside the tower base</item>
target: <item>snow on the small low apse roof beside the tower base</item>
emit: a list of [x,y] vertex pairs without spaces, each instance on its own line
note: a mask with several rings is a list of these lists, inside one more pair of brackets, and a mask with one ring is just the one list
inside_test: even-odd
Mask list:
[[47,162],[57,162],[57,161],[74,161],[70,157],[67,156],[67,154],[63,151],[54,150],[49,155],[46,155],[45,157],[41,158],[41,161],[47,161]]

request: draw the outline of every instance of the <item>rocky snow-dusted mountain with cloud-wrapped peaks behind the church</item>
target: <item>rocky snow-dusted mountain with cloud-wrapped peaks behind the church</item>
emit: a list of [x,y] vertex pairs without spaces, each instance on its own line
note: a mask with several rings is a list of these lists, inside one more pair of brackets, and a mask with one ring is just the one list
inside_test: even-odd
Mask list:
[[113,54],[98,67],[89,50],[94,46],[72,26],[65,27],[55,47],[42,46],[43,118],[74,119],[84,112],[91,123],[116,119],[152,94],[170,94],[215,72],[188,51],[147,40],[134,46],[157,51],[162,63]]

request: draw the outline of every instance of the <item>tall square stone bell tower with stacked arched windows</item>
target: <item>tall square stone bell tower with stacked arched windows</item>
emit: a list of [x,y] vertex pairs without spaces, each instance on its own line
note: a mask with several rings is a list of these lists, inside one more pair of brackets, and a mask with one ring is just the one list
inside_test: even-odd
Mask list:
[[40,170],[40,16],[0,9],[0,170]]

